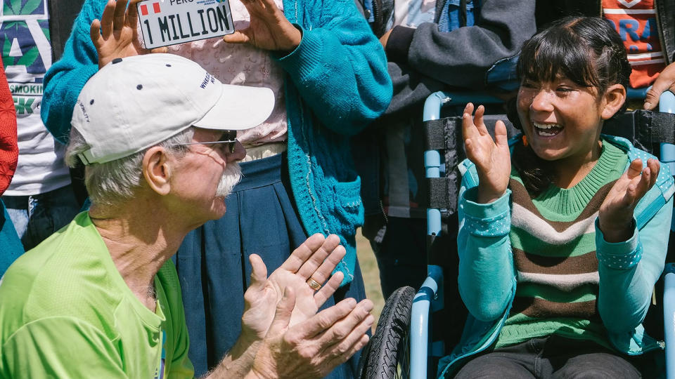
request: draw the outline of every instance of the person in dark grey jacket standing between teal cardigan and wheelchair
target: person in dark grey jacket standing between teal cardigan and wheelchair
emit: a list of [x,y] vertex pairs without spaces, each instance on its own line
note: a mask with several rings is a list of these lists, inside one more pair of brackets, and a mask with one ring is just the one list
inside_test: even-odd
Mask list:
[[[385,114],[373,124],[375,142],[366,142],[370,147],[354,149],[354,154],[370,154],[356,162],[374,161],[378,157],[372,157],[373,144],[380,149],[383,183],[364,185],[362,197],[380,197],[379,207],[366,203],[364,236],[375,251],[387,298],[401,286],[419,288],[427,274],[427,262],[420,259],[428,198],[423,170],[424,100],[449,88],[486,88],[502,67],[497,63],[508,66],[513,60],[509,58],[518,55],[536,28],[534,1],[396,0],[382,1],[381,8],[392,10],[390,18],[383,15],[381,24],[376,20],[371,27],[375,33],[383,32],[378,37],[387,53],[394,95]],[[374,212],[369,214],[369,209]]]

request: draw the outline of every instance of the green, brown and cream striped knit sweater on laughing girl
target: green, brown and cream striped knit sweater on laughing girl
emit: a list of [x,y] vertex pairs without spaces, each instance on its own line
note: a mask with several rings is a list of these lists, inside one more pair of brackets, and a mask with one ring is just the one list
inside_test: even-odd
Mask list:
[[609,346],[598,316],[595,220],[627,155],[603,144],[591,172],[570,189],[551,185],[531,199],[518,172],[510,179],[510,242],[518,286],[497,347],[560,334]]

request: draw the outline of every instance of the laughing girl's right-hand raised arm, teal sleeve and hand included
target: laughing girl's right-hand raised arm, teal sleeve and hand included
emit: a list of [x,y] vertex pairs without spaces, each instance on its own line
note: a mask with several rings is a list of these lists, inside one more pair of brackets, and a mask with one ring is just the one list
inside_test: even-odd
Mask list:
[[[663,271],[670,233],[673,199],[638,230],[634,209],[638,201],[654,201],[660,168],[649,159],[647,168],[636,159],[615,183],[596,221],[596,254],[600,291],[598,312],[613,333],[628,333],[640,324],[649,307],[654,284]],[[668,174],[669,175],[669,174]],[[648,194],[651,188],[652,194]],[[653,195],[659,193],[657,196]]]

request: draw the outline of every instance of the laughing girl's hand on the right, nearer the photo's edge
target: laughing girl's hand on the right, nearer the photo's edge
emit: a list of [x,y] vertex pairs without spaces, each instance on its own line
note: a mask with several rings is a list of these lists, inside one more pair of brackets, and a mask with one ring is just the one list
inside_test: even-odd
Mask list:
[[605,241],[622,242],[633,235],[633,212],[638,201],[654,186],[659,169],[656,159],[649,159],[644,169],[641,159],[636,159],[617,179],[598,211],[598,224]]

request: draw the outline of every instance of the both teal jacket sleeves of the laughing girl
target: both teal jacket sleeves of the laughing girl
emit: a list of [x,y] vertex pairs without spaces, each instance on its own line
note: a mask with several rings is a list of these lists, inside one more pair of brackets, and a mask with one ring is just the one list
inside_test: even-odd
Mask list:
[[[639,157],[646,164],[645,152],[635,149],[622,138],[612,138],[612,141],[618,141],[627,150],[629,161]],[[492,203],[477,204],[474,201],[476,186],[475,166],[469,164],[459,207],[459,291],[473,317],[480,321],[497,321],[513,301],[515,269],[509,241],[510,191]],[[616,244],[605,241],[596,220],[600,277],[598,312],[610,333],[631,333],[641,324],[648,310],[667,252],[673,210],[672,187],[669,169],[662,166],[657,185],[645,194],[636,208],[636,227],[626,241]]]

